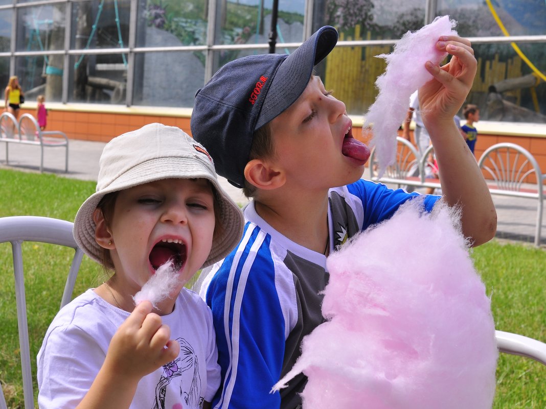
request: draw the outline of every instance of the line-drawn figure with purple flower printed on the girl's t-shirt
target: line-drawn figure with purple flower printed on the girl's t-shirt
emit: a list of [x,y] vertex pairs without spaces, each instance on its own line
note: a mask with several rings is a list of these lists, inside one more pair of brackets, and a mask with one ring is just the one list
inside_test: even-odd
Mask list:
[[[178,338],[180,355],[175,360],[163,365],[163,375],[156,386],[156,399],[153,409],[202,408],[201,378],[199,362],[193,347],[183,338]],[[167,386],[178,383],[179,396],[168,395]],[[170,388],[170,391],[175,388]],[[172,394],[172,392],[171,392]],[[181,405],[183,402],[185,405]]]

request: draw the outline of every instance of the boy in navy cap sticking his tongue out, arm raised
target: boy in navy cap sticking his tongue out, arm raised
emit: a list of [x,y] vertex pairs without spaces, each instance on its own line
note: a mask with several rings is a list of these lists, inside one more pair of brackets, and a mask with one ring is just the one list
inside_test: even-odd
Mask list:
[[[336,42],[327,26],[292,55],[240,58],[196,95],[194,139],[209,150],[219,175],[253,199],[238,248],[202,274],[223,379],[213,407],[300,407],[304,376],[280,394],[270,390],[299,357],[302,338],[324,321],[326,256],[417,196],[360,179],[369,149],[353,138],[345,104],[312,76]],[[440,199],[458,204],[462,231],[478,245],[494,236],[495,208],[453,123],[476,59],[459,37],[442,37],[437,47],[453,58],[442,68],[426,65],[434,79],[419,94],[444,197],[426,196],[424,206],[430,211]]]

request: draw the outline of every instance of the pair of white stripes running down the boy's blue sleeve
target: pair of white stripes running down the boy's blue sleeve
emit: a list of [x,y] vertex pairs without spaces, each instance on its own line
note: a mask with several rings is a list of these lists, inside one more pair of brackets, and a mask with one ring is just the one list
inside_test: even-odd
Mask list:
[[247,243],[251,239],[253,230],[254,228],[250,228],[250,226],[249,228],[246,229],[245,236],[243,237],[243,239],[241,240],[241,243],[239,244],[239,248],[236,251],[235,258],[232,263],[232,267],[229,271],[228,287],[226,289],[225,300],[224,300],[224,329],[225,329],[225,339],[227,341],[230,362],[224,377],[224,380],[227,382],[224,383],[224,386],[222,389],[222,395],[218,401],[218,404],[215,406],[215,409],[220,407],[222,407],[223,409],[227,409],[229,407],[229,401],[231,400],[233,389],[235,387],[235,381],[237,378],[237,368],[239,365],[239,354],[240,354],[239,317],[241,315],[242,297],[244,296],[244,293],[245,293],[245,286],[246,286],[246,281],[248,279],[248,274],[250,272],[254,259],[256,258],[257,252],[259,248],[262,246],[266,237],[266,234],[262,230],[258,232],[257,237],[254,239],[254,243],[252,243],[250,253],[248,254],[246,260],[244,261],[244,264],[241,269],[239,282],[235,292],[235,302],[233,305],[233,326],[231,328],[231,332],[232,332],[231,338],[229,335],[229,328],[230,328],[229,317],[230,317],[230,309],[232,308],[231,301],[233,297],[233,284],[235,282],[235,275],[241,260],[241,256],[244,250],[246,249]]

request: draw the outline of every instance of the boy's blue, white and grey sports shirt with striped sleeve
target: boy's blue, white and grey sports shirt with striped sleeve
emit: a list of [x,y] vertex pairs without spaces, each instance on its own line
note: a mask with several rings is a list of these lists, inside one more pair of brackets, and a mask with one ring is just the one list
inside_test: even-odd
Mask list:
[[[330,249],[370,225],[390,218],[418,194],[391,190],[360,179],[330,189]],[[426,196],[429,211],[439,196]],[[214,408],[294,409],[306,377],[299,375],[280,393],[271,387],[300,356],[301,340],[324,322],[322,294],[328,282],[326,257],[284,237],[245,208],[244,237],[206,274],[201,296],[212,309],[223,384]]]

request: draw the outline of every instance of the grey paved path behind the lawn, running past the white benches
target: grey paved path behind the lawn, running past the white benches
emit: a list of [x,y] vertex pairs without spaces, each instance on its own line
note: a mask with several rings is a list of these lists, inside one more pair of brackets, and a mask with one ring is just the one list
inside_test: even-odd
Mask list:
[[[0,144],[0,167],[35,171],[39,170],[40,149],[37,146],[9,147],[9,166],[5,161],[5,147]],[[98,161],[105,143],[70,140],[68,173],[64,173],[64,149],[46,148],[44,150],[44,172],[56,173],[75,179],[96,181]],[[366,175],[366,174],[365,174]],[[240,204],[248,202],[241,190],[228,181],[219,178],[222,187]],[[537,202],[533,199],[493,196],[497,209],[497,237],[520,242],[533,243],[537,220]],[[546,248],[546,217],[542,221],[541,246]]]

